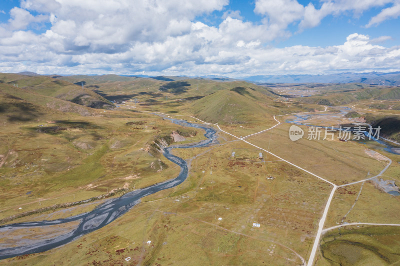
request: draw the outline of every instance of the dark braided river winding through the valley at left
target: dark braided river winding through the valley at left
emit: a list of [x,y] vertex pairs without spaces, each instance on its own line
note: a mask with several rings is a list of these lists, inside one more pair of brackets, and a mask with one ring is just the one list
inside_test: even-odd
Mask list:
[[172,149],[187,149],[187,148],[196,148],[196,147],[205,147],[216,144],[216,131],[204,125],[189,123],[185,120],[177,120],[166,118],[164,119],[170,120],[172,123],[178,124],[180,126],[185,127],[195,127],[201,128],[205,131],[204,136],[206,140],[194,143],[194,144],[186,144],[186,145],[174,145],[164,149],[163,155],[169,161],[177,164],[180,167],[180,172],[177,177],[174,179],[170,179],[161,183],[157,183],[155,185],[149,186],[143,189],[137,189],[131,192],[128,192],[116,199],[107,200],[105,203],[97,206],[93,211],[82,213],[76,216],[72,216],[65,219],[58,219],[53,221],[40,221],[40,222],[26,222],[26,223],[17,223],[10,224],[0,227],[0,234],[2,232],[6,232],[7,230],[12,229],[22,229],[22,228],[34,228],[34,227],[46,227],[46,226],[54,226],[59,224],[64,224],[72,221],[80,221],[78,227],[67,234],[58,236],[53,239],[45,239],[43,241],[37,242],[28,246],[21,247],[10,247],[4,248],[0,250],[0,260],[11,258],[19,255],[31,254],[48,251],[50,249],[60,247],[65,245],[75,239],[80,238],[83,235],[86,235],[90,232],[98,230],[118,217],[125,214],[128,210],[130,210],[133,206],[140,202],[140,199],[154,194],[158,191],[169,189],[176,187],[181,184],[188,175],[187,163],[182,158],[179,158],[175,155],[172,155],[170,151]]

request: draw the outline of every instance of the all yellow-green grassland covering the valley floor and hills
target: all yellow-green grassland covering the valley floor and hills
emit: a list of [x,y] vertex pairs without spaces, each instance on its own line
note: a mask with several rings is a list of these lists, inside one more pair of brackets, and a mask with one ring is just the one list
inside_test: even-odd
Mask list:
[[[157,151],[155,143],[174,145],[172,132],[186,138],[179,144],[197,142],[204,139],[203,132],[140,111],[163,112],[178,119],[182,118],[179,115],[192,115],[245,136],[277,123],[273,115],[324,109],[317,102],[285,101],[268,88],[244,81],[168,79],[107,75],[28,81],[15,76],[0,83],[0,219],[106,195],[119,188],[112,195],[116,197],[176,176],[179,168]],[[59,87],[50,93],[46,86],[54,80]],[[13,87],[14,81],[26,88]],[[116,101],[119,108],[95,109],[59,96],[68,86],[72,92],[81,89],[79,82],[84,82],[90,95],[101,97],[96,99]],[[340,104],[351,95],[354,98],[349,102],[362,99],[364,92],[358,94],[358,90],[377,93],[374,86],[345,89],[351,92],[330,88],[344,97],[332,96],[342,100]],[[376,95],[392,97],[396,92],[389,88]],[[357,109],[361,118],[366,117],[370,109],[359,107],[366,108]],[[333,110],[328,108],[327,113]],[[284,122],[293,117],[277,119]],[[307,122],[332,126],[349,120],[336,115]],[[282,123],[247,140],[337,185],[379,173],[387,161],[365,152],[377,150],[393,161],[384,178],[398,179],[399,156],[384,152],[381,145],[340,142],[337,135],[334,140],[320,141],[307,140],[305,135],[292,142],[289,126]],[[307,127],[300,127],[307,132]],[[310,254],[331,186],[269,154],[263,153],[262,162],[257,158],[260,150],[222,132],[218,132],[218,141],[212,147],[172,151],[189,163],[189,176],[181,185],[143,198],[113,223],[63,247],[0,264],[300,265]],[[235,158],[230,157],[232,151],[237,153]],[[344,216],[344,222],[398,223],[393,211],[398,206],[397,197],[379,191],[370,182],[362,186],[353,208],[361,184],[337,189],[325,228],[342,223]],[[46,210],[6,223],[63,218],[89,211],[103,200]],[[252,223],[259,223],[260,228],[253,228]],[[391,230],[360,226],[342,228],[340,234],[339,230],[329,231],[321,240],[317,265],[395,264],[399,260],[398,236]],[[390,232],[394,236],[389,236]],[[48,233],[22,230],[18,235],[27,241],[32,234]],[[15,241],[15,236],[3,236],[2,242],[8,241]],[[131,261],[124,261],[126,257]]]

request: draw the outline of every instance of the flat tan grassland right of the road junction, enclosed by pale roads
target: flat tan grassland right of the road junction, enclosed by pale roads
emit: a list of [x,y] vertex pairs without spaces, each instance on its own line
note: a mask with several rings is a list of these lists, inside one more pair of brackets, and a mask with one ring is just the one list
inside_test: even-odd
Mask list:
[[[322,140],[308,140],[305,135],[295,142],[289,139],[290,124],[284,123],[270,131],[248,138],[248,141],[268,151],[301,165],[304,169],[337,185],[362,180],[369,172],[378,174],[386,165],[365,154],[364,149],[352,142],[340,142],[335,136]],[[322,133],[323,135],[323,133]],[[266,160],[272,160],[270,155]]]

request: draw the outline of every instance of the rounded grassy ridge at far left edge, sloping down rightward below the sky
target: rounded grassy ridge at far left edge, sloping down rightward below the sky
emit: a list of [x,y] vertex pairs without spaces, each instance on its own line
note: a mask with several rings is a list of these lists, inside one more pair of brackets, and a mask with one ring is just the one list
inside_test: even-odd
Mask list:
[[0,74],[0,83],[91,108],[111,109],[113,104],[90,89],[47,76]]

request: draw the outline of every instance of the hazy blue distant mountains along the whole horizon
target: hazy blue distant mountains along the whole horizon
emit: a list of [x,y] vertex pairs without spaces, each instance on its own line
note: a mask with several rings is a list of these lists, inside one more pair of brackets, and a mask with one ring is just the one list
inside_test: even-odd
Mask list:
[[[39,74],[33,72],[20,72],[20,75],[38,76]],[[86,76],[107,76],[107,75],[86,75]],[[204,78],[216,81],[234,81],[246,80],[253,83],[364,83],[369,85],[386,85],[386,86],[400,86],[400,72],[367,72],[367,73],[353,73],[343,72],[338,74],[326,75],[258,75],[243,77],[241,79],[233,79],[226,76],[147,76],[147,75],[114,75],[120,77],[144,77],[152,78],[161,81],[182,80],[188,78]]]

